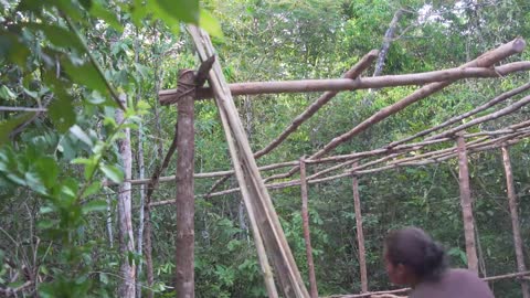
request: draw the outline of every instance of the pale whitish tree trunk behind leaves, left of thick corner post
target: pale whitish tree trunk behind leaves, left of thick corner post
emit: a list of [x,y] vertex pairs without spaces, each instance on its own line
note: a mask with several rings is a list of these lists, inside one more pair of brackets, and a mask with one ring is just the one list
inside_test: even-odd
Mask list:
[[[125,105],[126,97],[120,95],[120,100]],[[116,123],[124,121],[124,111],[116,109]],[[132,152],[130,149],[130,129],[125,129],[125,138],[118,141],[119,155],[124,164],[125,181],[118,188],[118,234],[119,234],[119,253],[121,255],[120,275],[123,280],[118,286],[118,296],[134,298],[136,266],[134,262],[129,262],[129,254],[135,252],[135,236],[132,232],[132,214],[131,214],[131,193],[130,178],[132,173]]]

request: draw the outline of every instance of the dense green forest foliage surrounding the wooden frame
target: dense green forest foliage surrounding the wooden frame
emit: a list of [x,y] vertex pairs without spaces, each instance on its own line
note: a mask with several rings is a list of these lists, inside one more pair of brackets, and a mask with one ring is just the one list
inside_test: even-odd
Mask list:
[[[398,11],[382,74],[456,67],[517,36],[530,41],[527,0],[142,2],[0,1],[0,106],[34,108],[0,111],[0,288],[19,288],[19,297],[116,296],[121,283],[119,264],[125,257],[117,245],[118,189],[102,181],[124,179],[117,141],[127,129],[132,178],[150,177],[162,162],[174,135],[177,111],[174,106],[159,105],[158,91],[174,88],[179,70],[198,65],[182,23],[199,23],[213,35],[231,83],[340,77],[370,50],[382,46]],[[529,58],[527,50],[511,60]],[[365,75],[373,72],[372,67]],[[379,148],[528,81],[527,73],[465,79],[375,125],[335,153]],[[340,93],[258,163],[310,155],[414,89]],[[127,111],[125,121],[117,121],[121,95],[127,98],[123,104]],[[236,98],[253,150],[266,146],[317,97]],[[529,113],[523,107],[469,131],[499,129],[528,119]],[[195,172],[230,169],[212,100],[195,104]],[[527,247],[529,146],[522,141],[510,148]],[[174,174],[174,164],[163,174]],[[481,273],[516,272],[500,150],[470,156],[469,169]],[[310,172],[316,170],[318,167],[309,167]],[[425,228],[444,244],[453,266],[466,266],[457,173],[456,160],[449,160],[360,178],[370,289],[392,288],[381,255],[382,240],[394,227]],[[201,196],[213,182],[195,181],[197,296],[265,297],[241,198]],[[236,181],[231,179],[224,188],[234,185]],[[135,247],[142,191],[132,188]],[[305,277],[299,188],[271,194]],[[152,201],[174,195],[174,183],[161,183]],[[174,209],[165,205],[151,212],[156,297],[174,295]],[[319,294],[359,292],[351,179],[311,185],[309,209]],[[140,252],[126,257],[144,264]],[[528,249],[524,253],[528,259]],[[138,278],[145,283],[145,269]],[[521,297],[515,280],[490,286],[498,297]],[[146,295],[148,289],[140,291]]]

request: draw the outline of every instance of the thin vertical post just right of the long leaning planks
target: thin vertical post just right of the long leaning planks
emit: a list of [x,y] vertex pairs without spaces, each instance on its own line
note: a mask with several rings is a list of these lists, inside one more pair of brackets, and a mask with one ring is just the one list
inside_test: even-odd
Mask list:
[[307,272],[309,274],[309,295],[311,298],[318,298],[317,278],[315,276],[315,264],[312,262],[311,236],[309,234],[309,212],[307,210],[307,181],[306,162],[300,159],[300,192],[301,192],[301,224],[304,227],[304,238],[306,240]]

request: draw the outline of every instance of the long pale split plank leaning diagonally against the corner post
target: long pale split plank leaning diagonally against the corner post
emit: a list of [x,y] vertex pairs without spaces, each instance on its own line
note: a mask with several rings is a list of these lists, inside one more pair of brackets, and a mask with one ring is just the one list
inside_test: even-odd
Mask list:
[[[193,38],[200,58],[205,61],[214,55],[214,49],[208,33],[193,25],[189,25],[188,29]],[[236,178],[242,190],[247,189],[248,191],[246,193],[242,191],[242,194],[248,198],[245,203],[248,202],[251,204],[247,211],[254,212],[256,215],[257,228],[263,236],[264,246],[273,260],[282,290],[286,297],[308,297],[309,295],[301,280],[272,200],[257,170],[254,156],[219,62],[215,62],[212,71],[210,71],[210,86],[214,89],[218,108],[222,119],[224,118],[223,127],[227,139],[230,141],[230,139],[234,138],[234,146],[230,151],[233,161],[240,162],[242,167],[242,172],[239,173],[236,171]]]

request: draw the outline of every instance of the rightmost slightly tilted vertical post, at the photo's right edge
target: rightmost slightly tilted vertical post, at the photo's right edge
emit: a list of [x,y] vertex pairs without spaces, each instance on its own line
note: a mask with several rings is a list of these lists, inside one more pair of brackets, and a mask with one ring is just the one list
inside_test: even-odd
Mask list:
[[[527,270],[527,266],[524,265],[524,255],[522,253],[522,240],[521,230],[519,226],[519,214],[517,211],[517,195],[516,188],[513,185],[513,173],[511,171],[510,153],[508,148],[502,146],[501,150],[506,172],[506,185],[508,190],[508,204],[510,206],[511,214],[511,228],[513,231],[513,246],[516,248],[517,269],[521,273]],[[523,298],[530,298],[529,285],[524,279],[521,279],[521,290]]]

